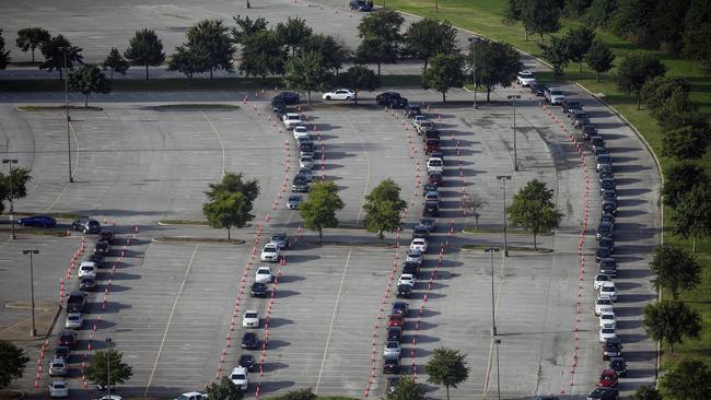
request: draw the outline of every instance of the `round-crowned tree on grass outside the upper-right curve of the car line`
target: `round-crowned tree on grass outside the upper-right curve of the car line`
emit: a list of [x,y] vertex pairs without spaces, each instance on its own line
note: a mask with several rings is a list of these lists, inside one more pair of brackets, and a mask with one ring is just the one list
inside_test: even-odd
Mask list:
[[617,86],[637,96],[637,109],[640,109],[641,92],[649,80],[664,75],[666,67],[658,58],[648,51],[629,52],[617,66]]

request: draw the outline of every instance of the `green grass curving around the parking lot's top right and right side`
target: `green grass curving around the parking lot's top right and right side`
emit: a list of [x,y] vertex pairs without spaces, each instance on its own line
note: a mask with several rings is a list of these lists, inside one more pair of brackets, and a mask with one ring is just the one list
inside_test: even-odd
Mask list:
[[[534,56],[540,56],[540,49],[537,45],[537,36],[531,36],[529,40],[524,40],[523,27],[517,25],[505,25],[502,23],[503,12],[506,0],[438,0],[439,12],[434,12],[434,1],[432,0],[387,0],[387,7],[395,8],[399,11],[429,16],[441,20],[447,20],[453,25],[463,27],[496,40],[510,43]],[[378,2],[380,4],[380,2]],[[575,21],[562,21],[560,34],[564,34],[570,28],[580,26]],[[608,43],[619,60],[626,54],[636,50],[637,47],[626,40],[622,40],[607,32],[597,31],[597,36]],[[667,67],[667,74],[671,77],[680,77],[686,79],[691,86],[691,98],[701,105],[701,111],[711,113],[711,78],[704,75],[699,67],[692,62],[673,58],[662,51],[649,50],[656,55]],[[660,157],[662,169],[665,170],[672,164],[672,160],[661,155],[662,130],[656,125],[650,114],[642,109],[637,109],[636,99],[620,92],[614,81],[615,70],[603,74],[601,83],[596,82],[595,73],[583,64],[582,71],[579,71],[578,64],[569,66],[562,80],[576,81],[587,90],[599,96],[620,111],[637,129],[644,136],[656,155]],[[541,80],[555,80],[552,73],[539,74]],[[560,81],[560,79],[557,79]],[[711,174],[711,152],[701,160],[701,164],[707,172]],[[668,226],[672,210],[665,209],[665,242],[685,246],[690,249],[690,240],[681,240],[674,237]],[[703,316],[703,332],[699,340],[689,341],[675,348],[674,354],[665,353],[665,363],[674,363],[681,356],[689,356],[703,360],[711,365],[711,240],[700,240],[698,244],[697,256],[703,266],[703,282],[695,291],[685,293],[681,298],[691,307],[701,311]]]

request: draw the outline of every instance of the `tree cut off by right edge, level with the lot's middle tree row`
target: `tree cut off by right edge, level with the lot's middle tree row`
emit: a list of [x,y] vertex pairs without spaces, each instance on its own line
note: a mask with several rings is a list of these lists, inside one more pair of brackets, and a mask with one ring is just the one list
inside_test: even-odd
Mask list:
[[691,254],[696,252],[699,236],[711,233],[711,186],[698,185],[680,196],[672,214],[672,232],[683,238],[691,238]]

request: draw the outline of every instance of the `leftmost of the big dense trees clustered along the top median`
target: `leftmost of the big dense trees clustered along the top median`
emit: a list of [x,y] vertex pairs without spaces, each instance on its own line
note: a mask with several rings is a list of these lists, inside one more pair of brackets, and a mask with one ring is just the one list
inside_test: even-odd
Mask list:
[[[213,70],[234,71],[232,57],[235,49],[230,38],[230,30],[222,24],[222,21],[200,21],[188,30],[187,43],[190,50],[205,55],[202,64],[210,72],[210,79]],[[195,59],[198,57],[194,57]]]

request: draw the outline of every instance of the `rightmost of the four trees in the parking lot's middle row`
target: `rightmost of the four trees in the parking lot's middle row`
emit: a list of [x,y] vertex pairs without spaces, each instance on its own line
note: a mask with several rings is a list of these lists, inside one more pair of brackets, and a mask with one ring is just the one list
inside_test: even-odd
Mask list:
[[506,209],[509,221],[521,225],[534,235],[534,248],[538,249],[536,237],[560,225],[563,213],[552,202],[553,190],[538,179],[531,180],[513,197]]

